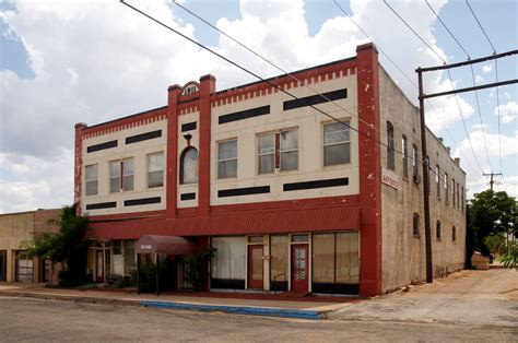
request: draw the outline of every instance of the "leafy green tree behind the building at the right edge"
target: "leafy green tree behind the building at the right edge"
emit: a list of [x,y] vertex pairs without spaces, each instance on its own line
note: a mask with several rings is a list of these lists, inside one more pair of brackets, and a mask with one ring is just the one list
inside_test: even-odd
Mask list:
[[[473,249],[488,255],[498,248],[504,255],[514,253],[518,234],[517,202],[505,191],[485,190],[468,204],[468,239]],[[511,240],[511,241],[509,241]],[[469,249],[470,247],[468,247]]]

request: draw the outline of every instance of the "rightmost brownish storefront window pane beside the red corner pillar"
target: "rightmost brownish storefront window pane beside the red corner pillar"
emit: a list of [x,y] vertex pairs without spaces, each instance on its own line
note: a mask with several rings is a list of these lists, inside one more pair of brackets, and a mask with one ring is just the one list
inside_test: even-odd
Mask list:
[[337,283],[360,282],[358,234],[337,233]]

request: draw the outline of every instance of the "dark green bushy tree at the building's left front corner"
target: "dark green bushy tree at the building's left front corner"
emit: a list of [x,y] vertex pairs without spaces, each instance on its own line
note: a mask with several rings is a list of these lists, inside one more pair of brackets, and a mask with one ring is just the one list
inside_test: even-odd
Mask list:
[[89,218],[76,216],[73,205],[64,206],[59,217],[50,223],[58,225],[59,232],[36,236],[33,241],[26,244],[28,253],[61,262],[63,270],[59,274],[60,285],[72,286],[86,282],[89,243],[84,239],[84,235],[89,227]]

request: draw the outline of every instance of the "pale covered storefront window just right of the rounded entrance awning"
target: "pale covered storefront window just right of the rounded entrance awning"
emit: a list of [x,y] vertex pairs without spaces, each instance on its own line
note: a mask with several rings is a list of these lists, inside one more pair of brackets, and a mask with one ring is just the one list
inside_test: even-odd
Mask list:
[[212,247],[216,248],[211,260],[212,277],[245,280],[245,237],[213,237]]

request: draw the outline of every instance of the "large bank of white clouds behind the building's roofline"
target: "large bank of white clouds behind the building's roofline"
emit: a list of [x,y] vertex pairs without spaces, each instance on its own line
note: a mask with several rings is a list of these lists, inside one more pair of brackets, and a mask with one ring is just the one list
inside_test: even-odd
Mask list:
[[[199,22],[193,22],[200,25],[195,27],[180,21],[168,0],[129,2],[195,39],[198,31],[210,29]],[[434,8],[440,11],[445,3],[434,2]],[[118,1],[14,5],[15,13],[0,13],[8,25],[4,34],[23,42],[35,78],[23,80],[11,71],[0,71],[0,211],[72,201],[75,122],[94,125],[163,106],[168,85],[207,73],[217,78],[219,90],[256,81]],[[414,1],[393,1],[391,5],[447,58],[436,44],[431,29],[435,17],[425,5]],[[352,0],[351,8],[354,20],[411,78],[417,66],[443,63],[382,2]],[[302,0],[242,0],[240,14],[234,20],[220,19],[217,27],[287,71],[354,56],[356,46],[368,40],[348,17],[339,16],[338,9],[335,17],[309,35]],[[261,76],[280,73],[225,37],[212,48]],[[379,58],[416,103],[416,88],[382,55]],[[427,93],[451,88],[442,72],[431,73],[424,86]],[[426,120],[433,130],[460,120],[455,96],[431,102],[435,111],[428,109]],[[464,119],[472,116],[471,105],[460,96],[458,102]]]

